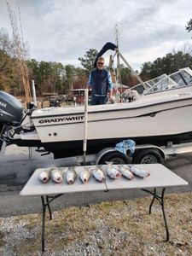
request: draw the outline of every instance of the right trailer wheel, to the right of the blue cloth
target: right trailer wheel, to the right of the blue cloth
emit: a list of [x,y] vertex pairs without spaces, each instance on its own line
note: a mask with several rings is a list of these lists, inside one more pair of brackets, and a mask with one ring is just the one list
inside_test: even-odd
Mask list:
[[155,149],[143,149],[135,153],[133,157],[134,164],[162,164],[163,159],[160,153]]

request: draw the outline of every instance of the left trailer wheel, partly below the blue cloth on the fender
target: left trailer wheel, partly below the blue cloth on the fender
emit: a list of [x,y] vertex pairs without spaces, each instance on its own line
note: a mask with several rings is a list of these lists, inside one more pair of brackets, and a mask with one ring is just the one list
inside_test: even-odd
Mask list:
[[121,154],[119,152],[109,152],[104,154],[101,160],[99,160],[100,165],[105,165],[106,162],[113,162],[114,165],[125,165],[130,164],[131,160],[125,154]]

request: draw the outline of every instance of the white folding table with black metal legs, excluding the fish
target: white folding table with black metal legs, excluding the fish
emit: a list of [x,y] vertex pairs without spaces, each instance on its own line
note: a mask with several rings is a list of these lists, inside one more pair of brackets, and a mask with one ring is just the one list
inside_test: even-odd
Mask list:
[[[188,183],[183,178],[178,177],[177,174],[167,169],[165,166],[160,164],[151,165],[135,165],[136,167],[148,171],[149,177],[134,177],[128,180],[125,177],[119,179],[110,179],[106,176],[105,183],[99,183],[94,177],[90,177],[89,183],[82,183],[79,178],[76,179],[75,183],[69,185],[63,180],[62,183],[54,183],[49,180],[48,183],[41,183],[38,179],[39,173],[43,172],[44,169],[37,169],[33,172],[32,177],[28,180],[25,187],[20,191],[20,195],[39,195],[42,201],[42,251],[44,252],[44,224],[45,224],[45,211],[46,207],[49,210],[49,219],[52,219],[50,210],[50,202],[54,201],[55,198],[67,193],[74,192],[90,192],[90,191],[109,191],[112,189],[142,189],[143,191],[153,195],[153,199],[149,206],[149,214],[153,206],[154,200],[160,202],[165,227],[166,227],[166,241],[169,240],[169,230],[166,222],[166,212],[164,207],[164,195],[167,187],[182,186]],[[86,166],[94,167],[94,166]],[[77,172],[81,172],[84,166],[76,167]],[[160,195],[157,195],[157,189],[160,188]],[[148,190],[150,189],[150,190]]]

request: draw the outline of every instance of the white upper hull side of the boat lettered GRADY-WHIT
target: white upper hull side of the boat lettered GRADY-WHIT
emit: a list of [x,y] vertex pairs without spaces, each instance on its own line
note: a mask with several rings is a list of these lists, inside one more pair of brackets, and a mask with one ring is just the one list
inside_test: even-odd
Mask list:
[[[168,99],[168,97],[167,97]],[[143,105],[145,103],[145,105]],[[95,107],[95,108],[93,108]],[[158,137],[192,131],[192,98],[178,96],[167,102],[132,102],[93,106],[88,112],[87,139]],[[111,108],[109,108],[111,107]],[[62,113],[62,110],[65,113]],[[55,115],[32,115],[42,143],[71,142],[84,139],[83,108],[59,109]],[[50,112],[49,112],[50,113]]]

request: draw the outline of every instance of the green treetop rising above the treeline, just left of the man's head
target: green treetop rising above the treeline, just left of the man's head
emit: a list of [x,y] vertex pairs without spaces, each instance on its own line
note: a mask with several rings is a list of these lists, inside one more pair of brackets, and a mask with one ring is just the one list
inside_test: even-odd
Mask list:
[[90,73],[90,71],[94,67],[94,61],[96,60],[96,55],[98,54],[98,51],[96,49],[89,49],[86,51],[86,54],[84,55],[84,58],[79,57],[79,61],[81,61],[81,65],[84,67],[87,75]]

